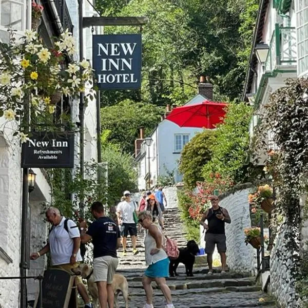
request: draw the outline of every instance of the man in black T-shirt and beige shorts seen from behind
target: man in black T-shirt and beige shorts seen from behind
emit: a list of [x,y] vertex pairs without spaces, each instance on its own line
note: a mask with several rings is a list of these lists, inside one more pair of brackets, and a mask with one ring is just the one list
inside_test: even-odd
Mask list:
[[101,202],[91,205],[91,213],[96,219],[89,226],[87,232],[86,221],[80,223],[81,242],[93,243],[93,277],[99,291],[101,308],[113,308],[114,293],[112,279],[118,266],[117,249],[121,245],[120,232],[117,224],[105,216],[104,206]]

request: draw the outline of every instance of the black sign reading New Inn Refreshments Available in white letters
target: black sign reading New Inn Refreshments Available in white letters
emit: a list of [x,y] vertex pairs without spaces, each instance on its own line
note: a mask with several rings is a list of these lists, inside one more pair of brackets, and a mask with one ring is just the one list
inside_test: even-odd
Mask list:
[[73,168],[74,132],[34,131],[23,143],[23,168]]

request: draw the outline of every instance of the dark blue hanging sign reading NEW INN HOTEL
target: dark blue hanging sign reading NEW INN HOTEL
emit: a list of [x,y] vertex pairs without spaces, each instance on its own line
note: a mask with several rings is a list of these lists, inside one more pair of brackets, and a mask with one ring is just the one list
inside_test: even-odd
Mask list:
[[99,89],[140,89],[141,49],[141,34],[93,35],[93,69]]

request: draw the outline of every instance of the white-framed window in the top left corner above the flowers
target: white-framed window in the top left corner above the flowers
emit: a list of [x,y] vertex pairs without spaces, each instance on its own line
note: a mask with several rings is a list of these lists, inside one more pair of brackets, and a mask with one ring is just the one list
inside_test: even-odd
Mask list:
[[0,0],[0,40],[8,42],[8,27],[17,30],[17,34],[24,31],[25,21],[26,0]]

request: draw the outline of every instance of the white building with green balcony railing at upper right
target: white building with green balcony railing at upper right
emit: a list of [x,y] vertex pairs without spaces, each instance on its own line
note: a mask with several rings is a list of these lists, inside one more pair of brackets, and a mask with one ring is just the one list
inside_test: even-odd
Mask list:
[[[307,10],[308,4],[303,0],[260,2],[242,95],[242,100],[249,100],[257,110],[249,128],[251,136],[258,122],[257,114],[262,113],[271,93],[284,86],[286,79],[302,76],[308,70]],[[258,61],[256,53],[262,42],[269,47],[265,63]],[[272,132],[268,131],[267,149],[271,148],[274,149],[275,144]],[[263,153],[260,155],[259,164],[263,164],[266,157]]]

